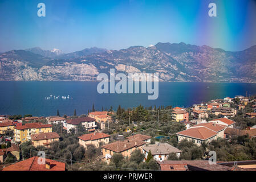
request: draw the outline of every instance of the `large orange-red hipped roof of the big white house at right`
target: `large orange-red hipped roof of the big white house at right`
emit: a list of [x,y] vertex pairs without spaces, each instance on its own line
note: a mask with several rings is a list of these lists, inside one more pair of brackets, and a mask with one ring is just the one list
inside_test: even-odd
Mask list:
[[176,134],[201,140],[206,140],[217,135],[215,131],[210,130],[206,127],[191,127],[190,129],[180,131]]

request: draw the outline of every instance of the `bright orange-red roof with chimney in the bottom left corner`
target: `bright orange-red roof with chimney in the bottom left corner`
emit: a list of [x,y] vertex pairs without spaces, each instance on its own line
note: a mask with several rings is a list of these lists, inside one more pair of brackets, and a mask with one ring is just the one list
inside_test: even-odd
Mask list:
[[3,171],[65,171],[66,164],[56,160],[45,159],[45,164],[38,163],[38,156],[23,160],[3,168]]

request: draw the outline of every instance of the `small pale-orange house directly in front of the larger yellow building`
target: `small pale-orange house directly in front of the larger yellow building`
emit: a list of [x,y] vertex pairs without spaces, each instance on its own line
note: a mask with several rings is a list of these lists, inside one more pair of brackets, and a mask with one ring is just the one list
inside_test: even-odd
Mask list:
[[56,132],[38,133],[31,135],[32,145],[50,147],[50,143],[59,140],[59,135]]

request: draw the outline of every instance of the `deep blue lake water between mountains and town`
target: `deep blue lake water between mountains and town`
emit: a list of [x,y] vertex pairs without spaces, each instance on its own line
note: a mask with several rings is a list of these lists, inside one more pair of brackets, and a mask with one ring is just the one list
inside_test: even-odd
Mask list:
[[[102,106],[117,109],[160,105],[192,106],[216,98],[256,94],[256,84],[205,83],[205,82],[160,82],[157,100],[148,100],[147,94],[99,94],[97,82],[76,81],[0,81],[0,114],[32,114],[34,116],[87,114]],[[46,97],[52,97],[46,99]],[[62,96],[70,96],[62,99]],[[54,100],[54,96],[60,96]]]

